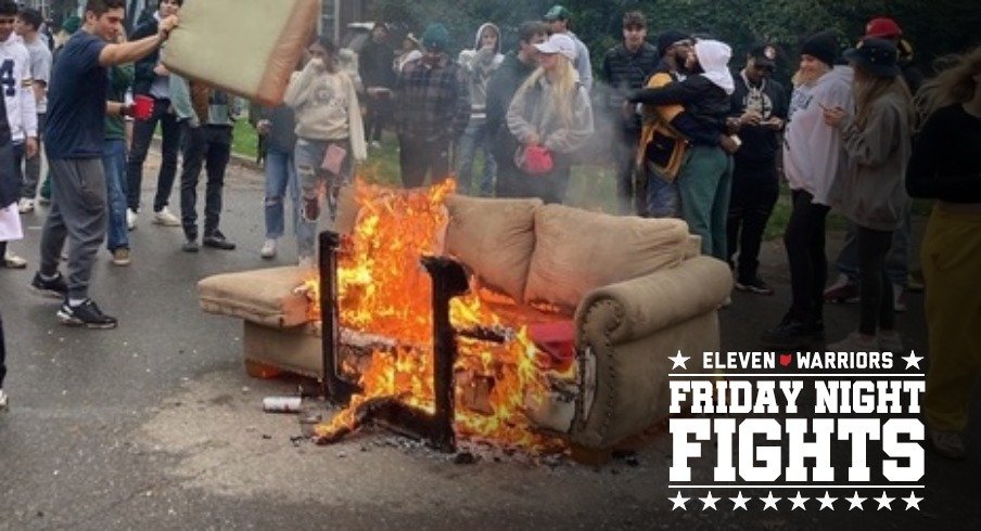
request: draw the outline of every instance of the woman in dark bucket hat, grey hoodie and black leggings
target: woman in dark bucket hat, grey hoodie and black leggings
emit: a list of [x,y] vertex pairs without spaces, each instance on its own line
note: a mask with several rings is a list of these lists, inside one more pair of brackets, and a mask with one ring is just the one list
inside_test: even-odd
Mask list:
[[833,183],[829,198],[855,223],[862,312],[858,331],[828,348],[899,352],[903,345],[895,331],[886,256],[892,233],[909,208],[905,174],[915,120],[913,96],[892,42],[866,38],[844,57],[855,69],[855,114],[833,107],[824,111],[824,119],[841,132],[848,154],[848,169]]

